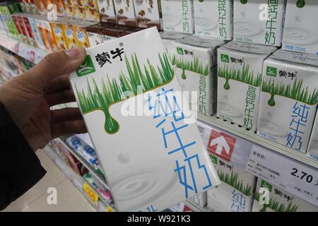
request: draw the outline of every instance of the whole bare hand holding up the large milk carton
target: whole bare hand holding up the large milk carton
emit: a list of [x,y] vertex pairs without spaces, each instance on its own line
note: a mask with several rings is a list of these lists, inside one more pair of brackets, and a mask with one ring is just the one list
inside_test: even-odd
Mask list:
[[68,73],[86,59],[83,47],[48,54],[39,64],[0,87],[0,102],[33,150],[44,148],[53,138],[85,133],[77,107],[49,107],[75,101]]

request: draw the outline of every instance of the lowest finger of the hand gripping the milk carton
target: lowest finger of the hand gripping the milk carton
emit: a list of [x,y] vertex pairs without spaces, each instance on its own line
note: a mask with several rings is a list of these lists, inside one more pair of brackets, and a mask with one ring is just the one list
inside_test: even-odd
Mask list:
[[62,121],[51,125],[52,139],[76,133],[87,133],[83,119],[74,121]]

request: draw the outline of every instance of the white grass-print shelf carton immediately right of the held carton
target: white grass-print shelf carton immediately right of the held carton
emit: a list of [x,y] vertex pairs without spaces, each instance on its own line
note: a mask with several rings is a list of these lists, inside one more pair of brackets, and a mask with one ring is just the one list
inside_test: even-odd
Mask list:
[[216,112],[216,49],[223,44],[223,40],[199,35],[175,41],[172,64],[177,66],[176,76],[182,90],[188,91],[189,97],[196,92],[196,98],[189,98],[189,104],[208,116]]

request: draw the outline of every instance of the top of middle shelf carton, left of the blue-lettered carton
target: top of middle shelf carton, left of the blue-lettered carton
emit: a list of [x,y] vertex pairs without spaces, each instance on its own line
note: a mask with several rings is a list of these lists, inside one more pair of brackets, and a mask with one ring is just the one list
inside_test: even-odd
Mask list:
[[223,47],[226,47],[228,49],[234,49],[237,51],[242,51],[242,52],[250,52],[253,54],[267,54],[267,55],[271,54],[277,49],[277,47],[264,45],[264,44],[253,44],[253,43],[236,42],[236,41],[228,42],[227,44],[223,45]]

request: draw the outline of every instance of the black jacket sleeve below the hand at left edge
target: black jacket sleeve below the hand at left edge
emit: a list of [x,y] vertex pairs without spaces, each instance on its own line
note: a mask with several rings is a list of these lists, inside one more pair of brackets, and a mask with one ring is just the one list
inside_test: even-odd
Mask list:
[[45,175],[33,149],[0,102],[0,210]]

